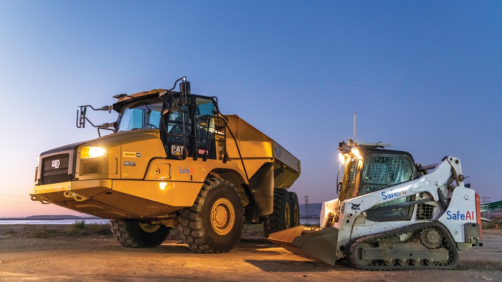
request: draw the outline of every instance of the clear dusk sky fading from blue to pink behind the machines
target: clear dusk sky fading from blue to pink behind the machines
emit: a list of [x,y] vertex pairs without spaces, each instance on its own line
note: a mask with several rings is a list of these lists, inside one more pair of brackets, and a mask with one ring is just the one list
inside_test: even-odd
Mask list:
[[[37,156],[97,137],[76,107],[170,88],[218,96],[301,160],[300,203],[337,198],[337,144],[460,158],[502,200],[502,2],[0,0],[0,217],[75,214],[29,200]],[[116,114],[91,112],[96,122]]]

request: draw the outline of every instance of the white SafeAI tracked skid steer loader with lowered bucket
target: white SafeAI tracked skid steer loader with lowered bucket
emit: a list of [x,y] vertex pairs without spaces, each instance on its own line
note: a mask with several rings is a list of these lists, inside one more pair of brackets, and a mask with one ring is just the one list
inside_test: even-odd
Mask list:
[[481,246],[479,196],[460,160],[415,165],[389,144],[339,144],[339,198],[324,202],[320,227],[268,237],[302,257],[360,269],[451,269],[458,250]]

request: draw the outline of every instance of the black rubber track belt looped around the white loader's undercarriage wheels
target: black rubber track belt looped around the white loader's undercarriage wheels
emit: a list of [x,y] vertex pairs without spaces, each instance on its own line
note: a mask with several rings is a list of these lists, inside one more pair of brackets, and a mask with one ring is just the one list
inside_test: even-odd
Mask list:
[[[415,231],[418,229],[423,229],[425,227],[437,227],[441,230],[441,233],[443,234],[443,238],[446,239],[446,248],[450,252],[450,261],[446,265],[358,265],[357,262],[354,260],[354,250],[356,247],[364,242],[372,243],[376,242],[379,239],[387,238],[387,237],[393,237],[399,234],[403,233],[408,233],[411,231]],[[372,234],[364,237],[359,237],[351,241],[349,250],[348,250],[348,258],[350,261],[350,264],[359,269],[364,269],[364,270],[403,270],[403,269],[453,269],[458,265],[458,249],[456,247],[455,242],[453,241],[453,238],[450,235],[450,232],[440,223],[436,222],[425,222],[425,223],[418,223],[418,224],[413,224],[411,226],[405,227],[405,228],[400,228],[400,229],[395,229],[391,230],[388,232],[382,232],[382,233],[377,233],[377,234]],[[375,260],[378,261],[378,260]],[[375,262],[373,262],[374,264]],[[397,263],[396,263],[397,264]]]

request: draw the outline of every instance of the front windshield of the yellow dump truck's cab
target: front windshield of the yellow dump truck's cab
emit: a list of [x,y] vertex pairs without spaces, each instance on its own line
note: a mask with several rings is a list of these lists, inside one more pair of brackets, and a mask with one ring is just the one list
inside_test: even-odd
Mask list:
[[118,132],[159,128],[162,100],[150,98],[129,104],[118,116]]

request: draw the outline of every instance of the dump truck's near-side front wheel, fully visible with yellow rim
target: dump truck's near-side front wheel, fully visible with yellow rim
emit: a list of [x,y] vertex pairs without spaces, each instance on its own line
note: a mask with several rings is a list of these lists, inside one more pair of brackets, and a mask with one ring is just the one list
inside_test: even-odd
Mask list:
[[188,247],[200,253],[227,252],[239,241],[244,227],[244,209],[230,182],[204,181],[195,203],[178,213],[178,228]]

